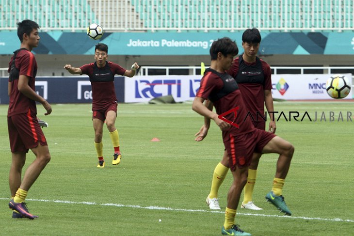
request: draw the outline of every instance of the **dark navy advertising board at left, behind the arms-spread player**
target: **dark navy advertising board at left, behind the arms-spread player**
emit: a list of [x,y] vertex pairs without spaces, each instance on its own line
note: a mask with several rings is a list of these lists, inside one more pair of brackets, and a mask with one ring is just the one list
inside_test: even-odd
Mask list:
[[[124,77],[114,77],[115,94],[118,102],[124,102]],[[0,78],[0,104],[8,104],[8,78]],[[87,76],[37,77],[37,94],[49,103],[92,103],[91,83]]]

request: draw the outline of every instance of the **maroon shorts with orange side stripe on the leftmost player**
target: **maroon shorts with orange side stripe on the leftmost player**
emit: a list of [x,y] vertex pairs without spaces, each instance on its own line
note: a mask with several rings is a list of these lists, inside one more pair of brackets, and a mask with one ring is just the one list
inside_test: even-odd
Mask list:
[[7,117],[11,152],[28,152],[40,143],[48,146],[35,114],[22,113]]

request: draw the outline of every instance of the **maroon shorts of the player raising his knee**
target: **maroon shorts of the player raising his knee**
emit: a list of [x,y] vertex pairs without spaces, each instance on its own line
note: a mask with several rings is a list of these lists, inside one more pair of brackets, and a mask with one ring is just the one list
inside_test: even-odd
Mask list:
[[236,166],[242,168],[251,164],[254,152],[262,153],[262,150],[269,141],[275,137],[275,134],[261,129],[238,136],[231,134],[225,138],[224,145],[229,156],[229,165],[231,171]]

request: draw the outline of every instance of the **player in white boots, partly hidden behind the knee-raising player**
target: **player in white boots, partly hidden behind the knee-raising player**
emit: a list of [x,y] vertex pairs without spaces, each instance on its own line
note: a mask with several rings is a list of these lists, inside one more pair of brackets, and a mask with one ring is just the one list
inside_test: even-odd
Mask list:
[[[261,36],[256,28],[247,29],[242,34],[242,47],[244,53],[234,60],[231,68],[227,71],[239,85],[243,101],[250,112],[248,119],[251,119],[253,125],[259,129],[265,129],[264,105],[269,113],[270,122],[268,131],[275,133],[276,125],[273,116],[274,105],[272,97],[272,72],[270,66],[259,59],[258,53]],[[212,109],[212,103],[206,102],[207,107]],[[196,133],[196,141],[202,141],[209,125],[202,126]],[[254,153],[251,165],[248,169],[248,179],[244,187],[243,202],[241,208],[251,210],[263,210],[252,201],[253,189],[256,183],[257,167],[261,153]],[[220,209],[218,190],[223,183],[229,170],[227,152],[224,152],[223,159],[215,167],[211,182],[210,193],[207,197],[207,204],[210,209]]]

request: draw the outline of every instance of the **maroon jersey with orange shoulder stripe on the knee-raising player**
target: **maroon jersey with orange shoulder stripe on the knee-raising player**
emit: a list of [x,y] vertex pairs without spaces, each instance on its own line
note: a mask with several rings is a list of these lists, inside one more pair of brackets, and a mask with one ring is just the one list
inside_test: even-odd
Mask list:
[[[232,77],[230,79],[234,80]],[[230,81],[226,79],[226,81]],[[235,82],[235,81],[231,81]],[[227,86],[227,85],[225,85]],[[200,81],[200,88],[196,94],[197,97],[202,97],[204,99],[209,99],[214,94],[218,94],[224,88],[224,81],[212,71],[207,71],[202,80]],[[233,136],[241,135],[244,133],[251,132],[255,129],[250,119],[245,119],[247,115],[247,108],[243,102],[241,91],[239,89],[234,90],[233,92],[226,94],[220,99],[213,101],[214,107],[216,109],[217,114],[222,114],[228,110],[232,110],[236,107],[239,107],[237,110],[237,116],[234,120],[234,113],[230,113],[225,116],[225,118],[229,121],[233,121],[239,128],[235,126],[231,126],[228,130],[223,131],[223,138],[228,137],[229,134]]]

